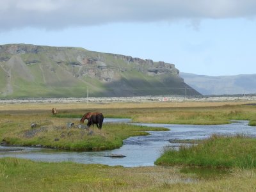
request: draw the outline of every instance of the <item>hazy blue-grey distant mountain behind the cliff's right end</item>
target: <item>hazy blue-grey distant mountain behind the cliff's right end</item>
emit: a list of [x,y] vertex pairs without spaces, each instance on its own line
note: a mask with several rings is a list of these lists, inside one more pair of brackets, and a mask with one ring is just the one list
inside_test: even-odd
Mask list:
[[189,86],[203,95],[232,95],[256,93],[256,74],[238,76],[201,76],[180,73]]

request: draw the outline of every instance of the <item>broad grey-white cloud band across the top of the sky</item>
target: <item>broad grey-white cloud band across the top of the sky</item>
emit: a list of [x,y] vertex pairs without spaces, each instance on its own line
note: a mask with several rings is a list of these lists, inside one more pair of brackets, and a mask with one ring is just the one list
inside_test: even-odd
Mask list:
[[252,18],[255,10],[254,0],[1,0],[0,31],[111,22]]

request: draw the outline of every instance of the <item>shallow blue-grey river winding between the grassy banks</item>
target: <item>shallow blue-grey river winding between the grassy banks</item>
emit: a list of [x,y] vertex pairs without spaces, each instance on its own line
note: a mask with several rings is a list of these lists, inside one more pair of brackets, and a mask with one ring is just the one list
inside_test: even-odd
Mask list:
[[[106,118],[104,122],[126,122],[129,119]],[[132,123],[131,123],[132,124]],[[227,125],[172,125],[172,124],[136,124],[151,127],[166,127],[170,131],[149,131],[148,136],[136,136],[124,140],[124,145],[115,150],[103,152],[67,152],[52,149],[31,147],[4,147],[1,150],[16,150],[0,152],[0,157],[19,157],[33,161],[73,161],[76,163],[100,163],[109,166],[121,165],[125,167],[153,166],[154,161],[161,156],[166,146],[179,147],[179,143],[169,140],[205,139],[212,134],[246,134],[256,137],[256,127],[248,126],[248,121],[232,121]],[[123,158],[107,157],[111,154],[122,154]]]

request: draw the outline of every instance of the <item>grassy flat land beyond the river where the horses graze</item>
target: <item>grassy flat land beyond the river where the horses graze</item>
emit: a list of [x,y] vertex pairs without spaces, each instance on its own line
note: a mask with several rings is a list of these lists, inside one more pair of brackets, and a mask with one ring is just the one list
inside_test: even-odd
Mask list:
[[[126,124],[104,124],[93,136],[81,129],[67,129],[67,122],[79,124],[88,111],[100,111],[105,118],[132,118],[132,122],[161,124],[228,124],[230,120],[255,120],[256,106],[245,102],[152,102],[152,103],[54,103],[1,104],[0,140],[15,145],[40,145],[70,150],[107,150],[122,146],[129,136],[145,131],[166,130]],[[51,108],[58,109],[52,116]],[[58,117],[58,118],[56,118]],[[31,129],[30,125],[38,126]]]

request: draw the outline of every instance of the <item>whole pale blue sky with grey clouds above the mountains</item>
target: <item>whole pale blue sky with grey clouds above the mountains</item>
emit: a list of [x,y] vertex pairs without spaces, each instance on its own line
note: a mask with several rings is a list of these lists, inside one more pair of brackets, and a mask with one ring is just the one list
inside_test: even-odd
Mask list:
[[207,76],[256,74],[254,0],[0,0],[0,45],[83,47]]

